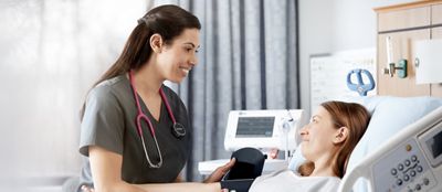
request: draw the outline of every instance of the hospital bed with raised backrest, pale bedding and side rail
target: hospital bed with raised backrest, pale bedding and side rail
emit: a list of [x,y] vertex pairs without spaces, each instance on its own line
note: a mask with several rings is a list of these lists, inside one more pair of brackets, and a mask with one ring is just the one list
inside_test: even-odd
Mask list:
[[338,191],[442,191],[442,99],[365,97],[358,103],[372,115]]

